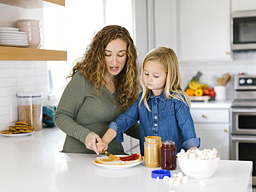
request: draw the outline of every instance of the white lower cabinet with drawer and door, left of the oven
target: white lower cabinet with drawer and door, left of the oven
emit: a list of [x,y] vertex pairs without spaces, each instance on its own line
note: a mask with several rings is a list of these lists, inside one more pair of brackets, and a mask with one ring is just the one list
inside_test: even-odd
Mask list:
[[221,160],[229,160],[229,109],[192,108],[196,136],[201,137],[203,148],[217,148]]

